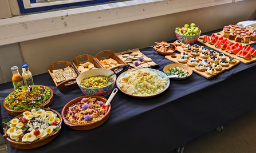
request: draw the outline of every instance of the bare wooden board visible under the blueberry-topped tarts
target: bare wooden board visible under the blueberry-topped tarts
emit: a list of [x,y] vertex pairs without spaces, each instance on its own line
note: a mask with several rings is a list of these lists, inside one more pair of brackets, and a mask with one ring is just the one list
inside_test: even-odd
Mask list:
[[[180,57],[180,54],[178,54],[178,53],[172,53],[172,54],[170,54],[170,55],[166,55],[166,58],[169,59],[170,61],[172,61],[172,62],[174,62],[174,63],[179,63],[179,64],[182,64],[182,65],[186,65],[186,66],[187,66],[186,63],[180,63],[180,62],[178,62],[178,58],[179,58],[179,57]],[[202,61],[199,61],[198,63],[202,63]],[[216,75],[208,75],[208,74],[206,74],[205,72],[200,72],[200,71],[196,70],[195,67],[190,67],[190,68],[194,71],[194,73],[199,74],[199,75],[201,75],[202,77],[204,77],[204,78],[206,78],[206,79],[210,79],[210,78],[212,78],[212,77],[215,77],[216,75],[218,75],[218,74],[220,74],[220,73],[222,73],[222,72],[225,71],[225,69],[222,68],[222,70],[217,71],[217,74],[216,74]]]

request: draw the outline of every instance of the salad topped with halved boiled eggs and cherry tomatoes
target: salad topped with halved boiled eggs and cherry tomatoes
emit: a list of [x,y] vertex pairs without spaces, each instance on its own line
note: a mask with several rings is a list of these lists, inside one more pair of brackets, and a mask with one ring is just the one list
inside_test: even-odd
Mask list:
[[7,124],[5,136],[16,142],[33,142],[45,138],[55,130],[60,130],[61,119],[50,108],[33,108],[25,111],[17,118],[11,119]]

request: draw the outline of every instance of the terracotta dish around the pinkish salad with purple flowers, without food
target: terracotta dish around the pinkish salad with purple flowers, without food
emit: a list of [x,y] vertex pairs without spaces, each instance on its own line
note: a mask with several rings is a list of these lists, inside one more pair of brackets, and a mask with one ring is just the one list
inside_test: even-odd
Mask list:
[[103,124],[104,122],[106,122],[106,120],[109,118],[109,115],[110,115],[110,111],[111,111],[111,104],[109,104],[108,106],[108,111],[107,113],[105,114],[105,116],[103,118],[101,118],[100,120],[96,120],[95,122],[92,122],[92,123],[87,123],[87,124],[76,124],[76,123],[72,123],[72,122],[69,122],[69,120],[67,120],[65,118],[65,110],[69,107],[69,106],[72,106],[72,104],[74,103],[77,103],[77,102],[80,102],[82,100],[82,98],[89,98],[89,97],[92,97],[92,98],[96,98],[97,100],[100,100],[100,101],[103,101],[104,103],[107,102],[107,98],[105,98],[104,96],[98,96],[98,95],[85,95],[85,96],[80,96],[78,98],[75,98],[73,100],[71,100],[70,102],[68,102],[63,108],[62,108],[62,111],[61,111],[61,116],[62,116],[62,119],[64,120],[64,123],[74,129],[74,130],[90,130],[92,128],[96,128],[98,126],[100,126],[101,124]]

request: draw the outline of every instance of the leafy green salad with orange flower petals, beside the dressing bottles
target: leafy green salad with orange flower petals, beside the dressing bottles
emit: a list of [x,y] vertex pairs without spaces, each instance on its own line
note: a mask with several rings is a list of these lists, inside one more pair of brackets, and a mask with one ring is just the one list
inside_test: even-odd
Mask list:
[[5,105],[15,111],[29,110],[45,103],[50,96],[48,87],[22,86],[6,97]]

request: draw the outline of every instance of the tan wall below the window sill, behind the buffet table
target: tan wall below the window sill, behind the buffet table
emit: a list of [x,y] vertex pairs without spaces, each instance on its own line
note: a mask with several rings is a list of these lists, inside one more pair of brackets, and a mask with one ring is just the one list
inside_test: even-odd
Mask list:
[[[241,1],[34,39],[20,43],[21,53],[32,74],[42,74],[52,63],[62,60],[71,62],[81,54],[96,55],[102,50],[118,53],[152,46],[157,41],[171,41],[175,39],[175,27],[185,23],[194,22],[202,32],[206,32],[239,21],[255,20],[255,6],[256,1]],[[5,66],[10,69],[12,65]],[[3,76],[6,82],[10,81],[11,71]]]

